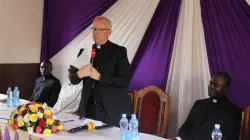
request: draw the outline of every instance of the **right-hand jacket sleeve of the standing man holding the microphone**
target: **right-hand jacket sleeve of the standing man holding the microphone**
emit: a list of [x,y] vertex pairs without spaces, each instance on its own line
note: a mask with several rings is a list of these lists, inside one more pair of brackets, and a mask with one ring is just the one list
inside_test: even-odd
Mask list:
[[129,62],[126,48],[122,47],[115,67],[115,75],[101,74],[101,87],[114,86],[118,88],[127,88],[129,83]]

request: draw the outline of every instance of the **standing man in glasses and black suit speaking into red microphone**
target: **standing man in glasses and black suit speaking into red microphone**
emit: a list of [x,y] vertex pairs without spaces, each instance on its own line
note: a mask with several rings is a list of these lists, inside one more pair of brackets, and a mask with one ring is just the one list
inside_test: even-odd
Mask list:
[[129,62],[125,47],[110,42],[111,22],[106,17],[96,17],[92,34],[96,49],[93,64],[82,66],[71,73],[72,84],[83,80],[82,99],[78,108],[80,118],[87,117],[119,126],[123,113],[130,115],[132,106],[127,92]]

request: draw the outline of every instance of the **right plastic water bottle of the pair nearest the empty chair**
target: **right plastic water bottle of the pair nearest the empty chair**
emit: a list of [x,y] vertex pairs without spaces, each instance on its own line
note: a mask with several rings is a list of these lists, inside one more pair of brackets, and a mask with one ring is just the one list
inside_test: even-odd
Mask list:
[[135,139],[138,139],[138,135],[139,135],[139,132],[138,132],[139,123],[136,119],[135,114],[132,114],[131,117],[132,118],[129,121],[129,137],[130,139],[135,140]]

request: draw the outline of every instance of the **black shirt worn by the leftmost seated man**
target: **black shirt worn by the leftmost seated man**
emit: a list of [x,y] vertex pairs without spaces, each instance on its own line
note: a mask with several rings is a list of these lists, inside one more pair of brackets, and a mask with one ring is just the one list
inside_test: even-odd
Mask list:
[[33,95],[29,100],[41,103],[46,102],[48,106],[53,107],[58,100],[60,91],[61,84],[56,77],[53,75],[46,78],[41,76],[36,79]]

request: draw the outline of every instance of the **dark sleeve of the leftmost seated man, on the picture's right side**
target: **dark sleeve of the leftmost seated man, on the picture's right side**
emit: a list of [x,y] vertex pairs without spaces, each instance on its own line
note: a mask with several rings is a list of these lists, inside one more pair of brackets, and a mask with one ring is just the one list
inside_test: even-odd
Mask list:
[[51,85],[51,97],[50,100],[47,102],[48,106],[54,107],[58,100],[59,93],[61,91],[61,83],[59,81],[56,81]]

